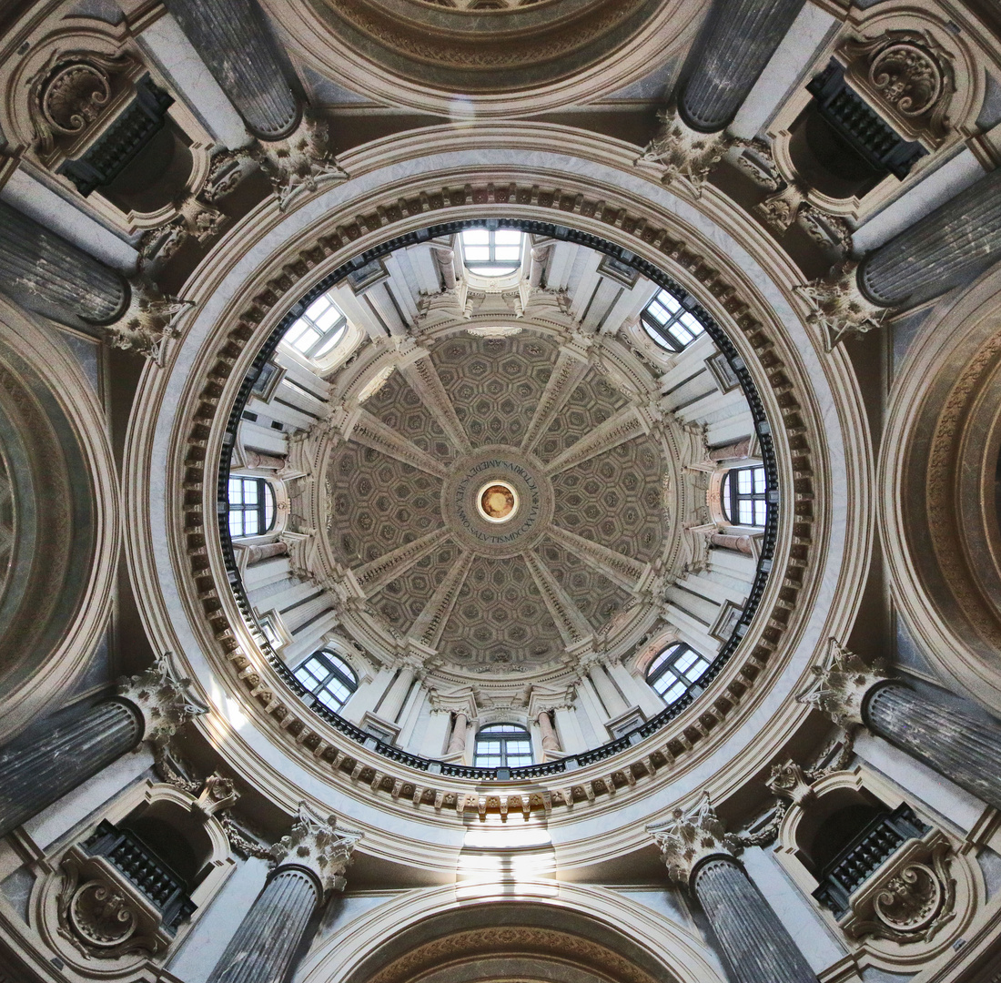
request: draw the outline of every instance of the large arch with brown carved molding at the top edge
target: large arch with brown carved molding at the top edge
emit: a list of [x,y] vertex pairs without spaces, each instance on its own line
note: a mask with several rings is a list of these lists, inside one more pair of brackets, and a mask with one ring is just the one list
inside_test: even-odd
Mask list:
[[[594,98],[596,92],[612,93],[638,81],[652,63],[663,63],[672,50],[685,46],[694,34],[697,10],[689,0],[575,0],[568,18],[566,3],[551,11],[543,9],[548,4],[538,10],[530,5],[503,12],[509,23],[519,23],[519,30],[503,30],[496,43],[484,45],[481,32],[469,30],[467,13],[437,6],[393,2],[386,9],[387,4],[373,0],[323,5],[265,0],[264,6],[289,50],[321,74],[343,77],[349,88],[388,105],[436,115],[467,112],[480,119],[552,111],[584,92]],[[624,31],[632,34],[625,46]],[[323,39],[321,45],[317,38]],[[364,39],[370,56],[359,57],[352,39]],[[609,43],[616,45],[617,57],[596,61],[596,53]],[[508,79],[508,90],[489,77],[498,71]],[[516,78],[523,83],[513,98],[510,86]],[[456,100],[455,92],[464,98]]]

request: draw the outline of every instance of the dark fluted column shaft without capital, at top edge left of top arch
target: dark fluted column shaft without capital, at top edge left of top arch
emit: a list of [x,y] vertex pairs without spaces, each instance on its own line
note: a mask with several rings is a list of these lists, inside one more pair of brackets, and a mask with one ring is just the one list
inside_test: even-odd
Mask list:
[[296,128],[302,107],[255,0],[167,0],[167,9],[254,136],[280,140]]

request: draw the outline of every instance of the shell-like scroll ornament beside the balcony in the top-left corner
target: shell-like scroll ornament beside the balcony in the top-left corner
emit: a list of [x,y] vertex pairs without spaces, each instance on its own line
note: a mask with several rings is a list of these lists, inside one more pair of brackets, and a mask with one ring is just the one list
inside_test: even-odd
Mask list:
[[38,150],[51,153],[60,137],[82,136],[111,103],[114,75],[134,62],[93,51],[54,51],[30,80],[28,111]]

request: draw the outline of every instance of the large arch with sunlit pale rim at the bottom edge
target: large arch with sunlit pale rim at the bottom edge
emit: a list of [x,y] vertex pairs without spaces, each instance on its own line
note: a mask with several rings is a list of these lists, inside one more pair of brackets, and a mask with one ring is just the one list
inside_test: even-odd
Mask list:
[[368,911],[363,926],[338,926],[300,967],[300,979],[723,980],[714,955],[695,934],[615,892],[565,885],[553,901],[531,897],[532,889],[520,891],[517,884],[509,889],[504,899],[460,904],[453,887],[437,888]]

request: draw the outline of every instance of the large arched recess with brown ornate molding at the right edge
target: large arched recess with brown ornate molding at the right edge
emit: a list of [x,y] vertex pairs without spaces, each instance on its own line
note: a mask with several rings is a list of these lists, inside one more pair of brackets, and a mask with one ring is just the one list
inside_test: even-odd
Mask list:
[[1001,269],[945,298],[912,343],[880,462],[894,600],[943,680],[1001,712]]

